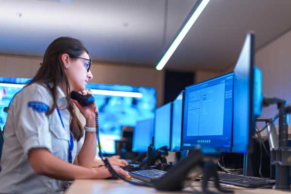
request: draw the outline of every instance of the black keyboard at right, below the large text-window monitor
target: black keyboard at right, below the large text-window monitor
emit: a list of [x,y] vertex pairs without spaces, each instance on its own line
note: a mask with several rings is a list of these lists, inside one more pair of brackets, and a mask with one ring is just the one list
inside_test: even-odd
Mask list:
[[232,174],[218,174],[218,179],[220,183],[247,188],[271,187],[275,184],[275,180]]

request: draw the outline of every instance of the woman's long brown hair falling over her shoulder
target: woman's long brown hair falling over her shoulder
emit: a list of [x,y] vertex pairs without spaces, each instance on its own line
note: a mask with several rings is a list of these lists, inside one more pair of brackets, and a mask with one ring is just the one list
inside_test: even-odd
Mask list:
[[28,84],[32,84],[34,82],[43,82],[45,84],[53,83],[53,87],[51,88],[51,94],[53,99],[53,105],[46,112],[47,115],[51,114],[57,104],[57,86],[62,84],[64,86],[65,97],[67,100],[67,109],[71,116],[70,129],[74,138],[79,141],[84,134],[83,126],[74,113],[73,102],[70,99],[70,86],[65,75],[64,65],[61,60],[62,54],[66,53],[70,58],[80,57],[84,52],[88,52],[85,46],[81,43],[80,40],[70,37],[60,37],[55,39],[52,43],[50,43],[48,49],[45,52],[43,62],[38,69],[36,75],[32,79],[32,81]]

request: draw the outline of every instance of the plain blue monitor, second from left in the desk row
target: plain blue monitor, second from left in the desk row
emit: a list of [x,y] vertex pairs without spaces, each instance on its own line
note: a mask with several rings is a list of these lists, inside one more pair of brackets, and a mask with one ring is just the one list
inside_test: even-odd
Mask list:
[[154,146],[156,149],[166,146],[171,148],[171,125],[172,125],[172,102],[169,102],[158,109],[155,114]]

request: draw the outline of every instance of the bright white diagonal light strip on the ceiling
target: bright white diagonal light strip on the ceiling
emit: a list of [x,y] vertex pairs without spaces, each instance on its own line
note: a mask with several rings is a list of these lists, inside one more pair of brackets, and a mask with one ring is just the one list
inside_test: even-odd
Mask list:
[[179,44],[182,42],[186,34],[189,32],[193,24],[195,23],[196,19],[200,16],[206,5],[209,3],[210,0],[202,0],[202,2],[199,4],[197,9],[194,11],[193,15],[190,17],[190,19],[187,21],[181,32],[179,32],[178,36],[172,43],[172,45],[169,47],[169,49],[166,51],[166,53],[163,55],[161,61],[156,66],[157,70],[162,70],[162,68],[166,65],[166,63],[169,61],[172,54],[175,52],[175,50],[178,48]]

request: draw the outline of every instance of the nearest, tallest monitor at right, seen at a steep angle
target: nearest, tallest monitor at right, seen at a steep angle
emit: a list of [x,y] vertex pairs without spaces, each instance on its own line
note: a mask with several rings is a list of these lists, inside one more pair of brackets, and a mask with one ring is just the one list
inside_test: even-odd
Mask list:
[[234,68],[233,94],[233,152],[248,151],[255,126],[253,113],[253,86],[255,61],[255,34],[248,33]]

